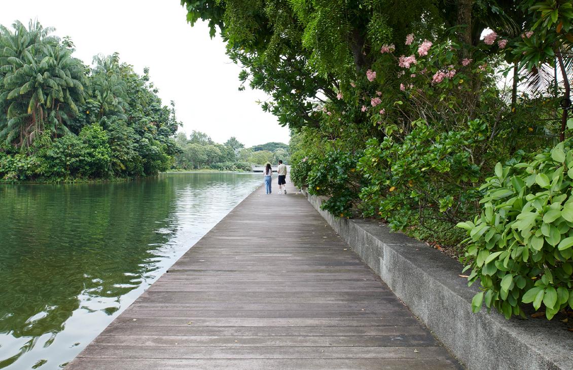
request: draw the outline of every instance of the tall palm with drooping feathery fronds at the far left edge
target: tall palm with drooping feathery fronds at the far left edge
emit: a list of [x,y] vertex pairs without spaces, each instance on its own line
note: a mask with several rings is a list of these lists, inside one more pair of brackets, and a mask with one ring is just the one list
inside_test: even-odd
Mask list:
[[67,125],[84,101],[85,68],[72,49],[50,37],[52,29],[30,21],[14,32],[0,29],[0,140],[29,147],[43,132],[69,133]]

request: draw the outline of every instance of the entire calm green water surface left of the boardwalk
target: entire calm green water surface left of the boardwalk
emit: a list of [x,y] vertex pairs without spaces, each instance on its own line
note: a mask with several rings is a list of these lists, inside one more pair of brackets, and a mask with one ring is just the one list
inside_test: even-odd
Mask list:
[[63,367],[261,183],[0,185],[0,368]]

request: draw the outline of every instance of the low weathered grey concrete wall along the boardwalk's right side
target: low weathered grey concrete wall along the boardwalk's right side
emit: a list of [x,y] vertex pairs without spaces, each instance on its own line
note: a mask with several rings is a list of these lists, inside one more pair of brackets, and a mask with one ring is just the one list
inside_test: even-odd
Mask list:
[[505,320],[485,309],[474,314],[477,284],[467,286],[462,265],[437,250],[391,233],[375,220],[348,220],[308,200],[364,262],[469,369],[573,369],[573,333],[562,323]]

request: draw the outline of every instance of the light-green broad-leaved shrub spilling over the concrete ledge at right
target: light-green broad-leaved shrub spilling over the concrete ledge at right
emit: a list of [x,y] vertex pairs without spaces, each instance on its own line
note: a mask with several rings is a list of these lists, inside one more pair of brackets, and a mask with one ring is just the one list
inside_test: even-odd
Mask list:
[[543,305],[545,316],[573,308],[573,149],[571,140],[529,162],[495,167],[480,188],[482,212],[460,222],[469,238],[469,284],[481,280],[483,302],[506,318],[524,316],[521,304]]

